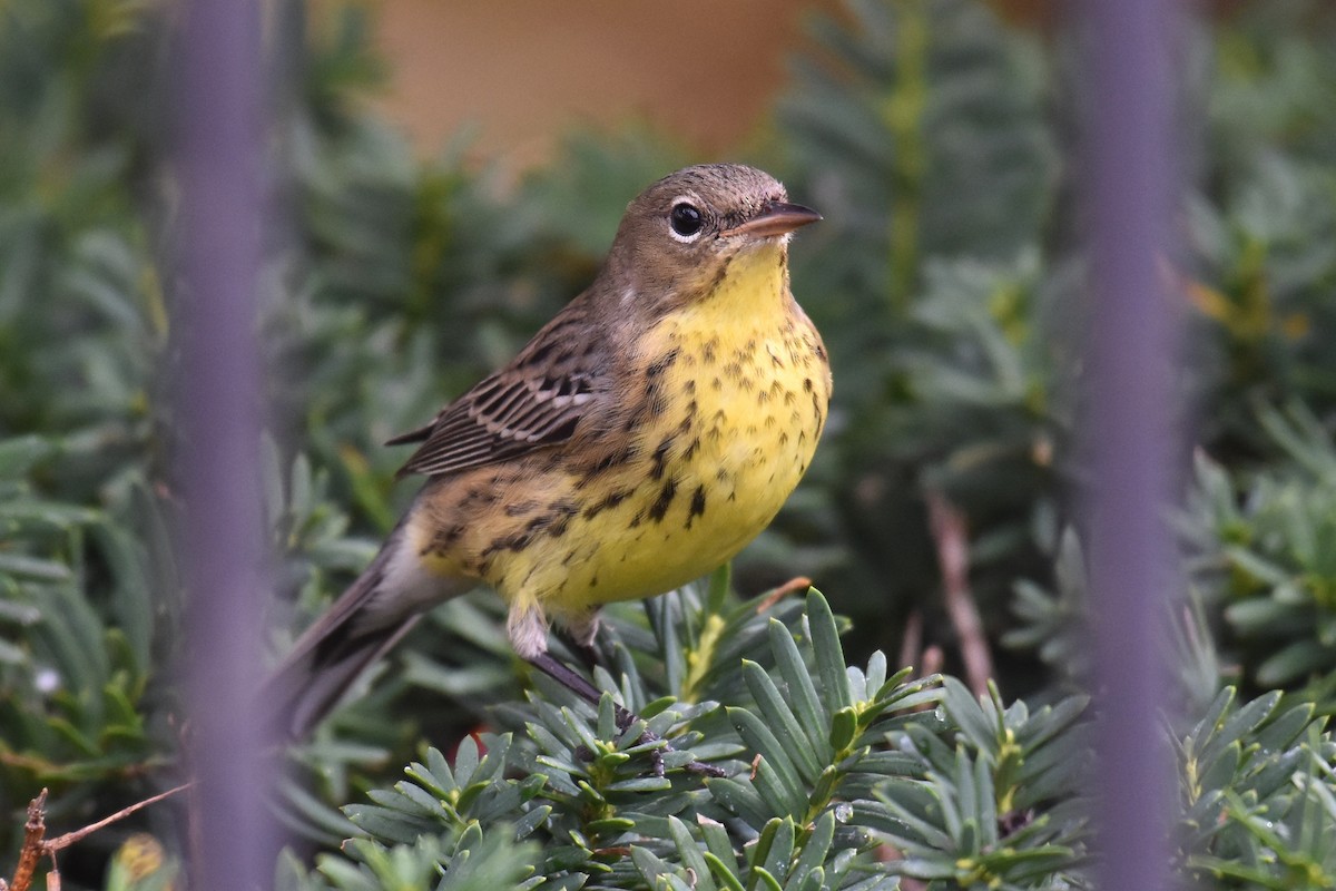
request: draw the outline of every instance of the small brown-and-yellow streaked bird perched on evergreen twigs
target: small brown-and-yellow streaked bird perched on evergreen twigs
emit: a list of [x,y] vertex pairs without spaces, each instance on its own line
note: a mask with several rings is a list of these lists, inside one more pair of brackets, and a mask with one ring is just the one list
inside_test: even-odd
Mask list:
[[[426,426],[426,484],[370,566],[294,644],[265,699],[299,737],[428,608],[478,582],[516,652],[593,703],[548,652],[612,601],[732,558],[779,512],[826,425],[830,363],[788,286],[820,215],[739,164],[680,170],[627,207],[587,291]],[[625,713],[629,715],[629,713]]]

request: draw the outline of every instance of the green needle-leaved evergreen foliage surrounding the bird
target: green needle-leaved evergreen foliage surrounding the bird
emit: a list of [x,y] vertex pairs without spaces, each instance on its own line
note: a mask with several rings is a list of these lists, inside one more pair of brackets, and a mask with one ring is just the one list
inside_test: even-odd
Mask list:
[[[359,104],[385,64],[359,12],[274,9],[285,212],[261,327],[281,652],[406,497],[377,443],[506,361],[589,281],[625,202],[703,159],[644,127],[580,132],[501,190],[464,146],[422,160]],[[612,610],[596,677],[684,749],[667,779],[609,700],[528,677],[500,606],[470,596],[293,753],[281,887],[1089,886],[1067,150],[1098,110],[1069,90],[1075,47],[975,0],[844,12],[811,19],[743,152],[827,218],[795,243],[794,285],[836,365],[830,433],[732,577]],[[0,4],[0,874],[41,787],[75,828],[182,776],[168,28],[131,0]],[[1176,516],[1189,597],[1166,608],[1176,866],[1205,887],[1331,888],[1336,15],[1260,0],[1184,45],[1204,115],[1166,258],[1197,406]],[[929,498],[967,520],[997,664],[982,699],[950,676]],[[733,593],[798,573],[830,604]],[[911,620],[947,676],[883,655]],[[728,777],[673,769],[687,749]],[[65,884],[179,882],[178,815],[92,836]],[[156,840],[124,846],[132,831]],[[159,842],[138,868],[128,852]]]

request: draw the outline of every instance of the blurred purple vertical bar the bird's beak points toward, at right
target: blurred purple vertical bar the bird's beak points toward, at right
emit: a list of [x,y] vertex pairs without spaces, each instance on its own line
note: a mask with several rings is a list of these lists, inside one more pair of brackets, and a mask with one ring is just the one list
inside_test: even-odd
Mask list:
[[1172,751],[1164,633],[1178,594],[1180,330],[1161,263],[1176,198],[1174,0],[1082,0],[1082,198],[1093,306],[1079,431],[1096,636],[1098,887],[1172,884]]

